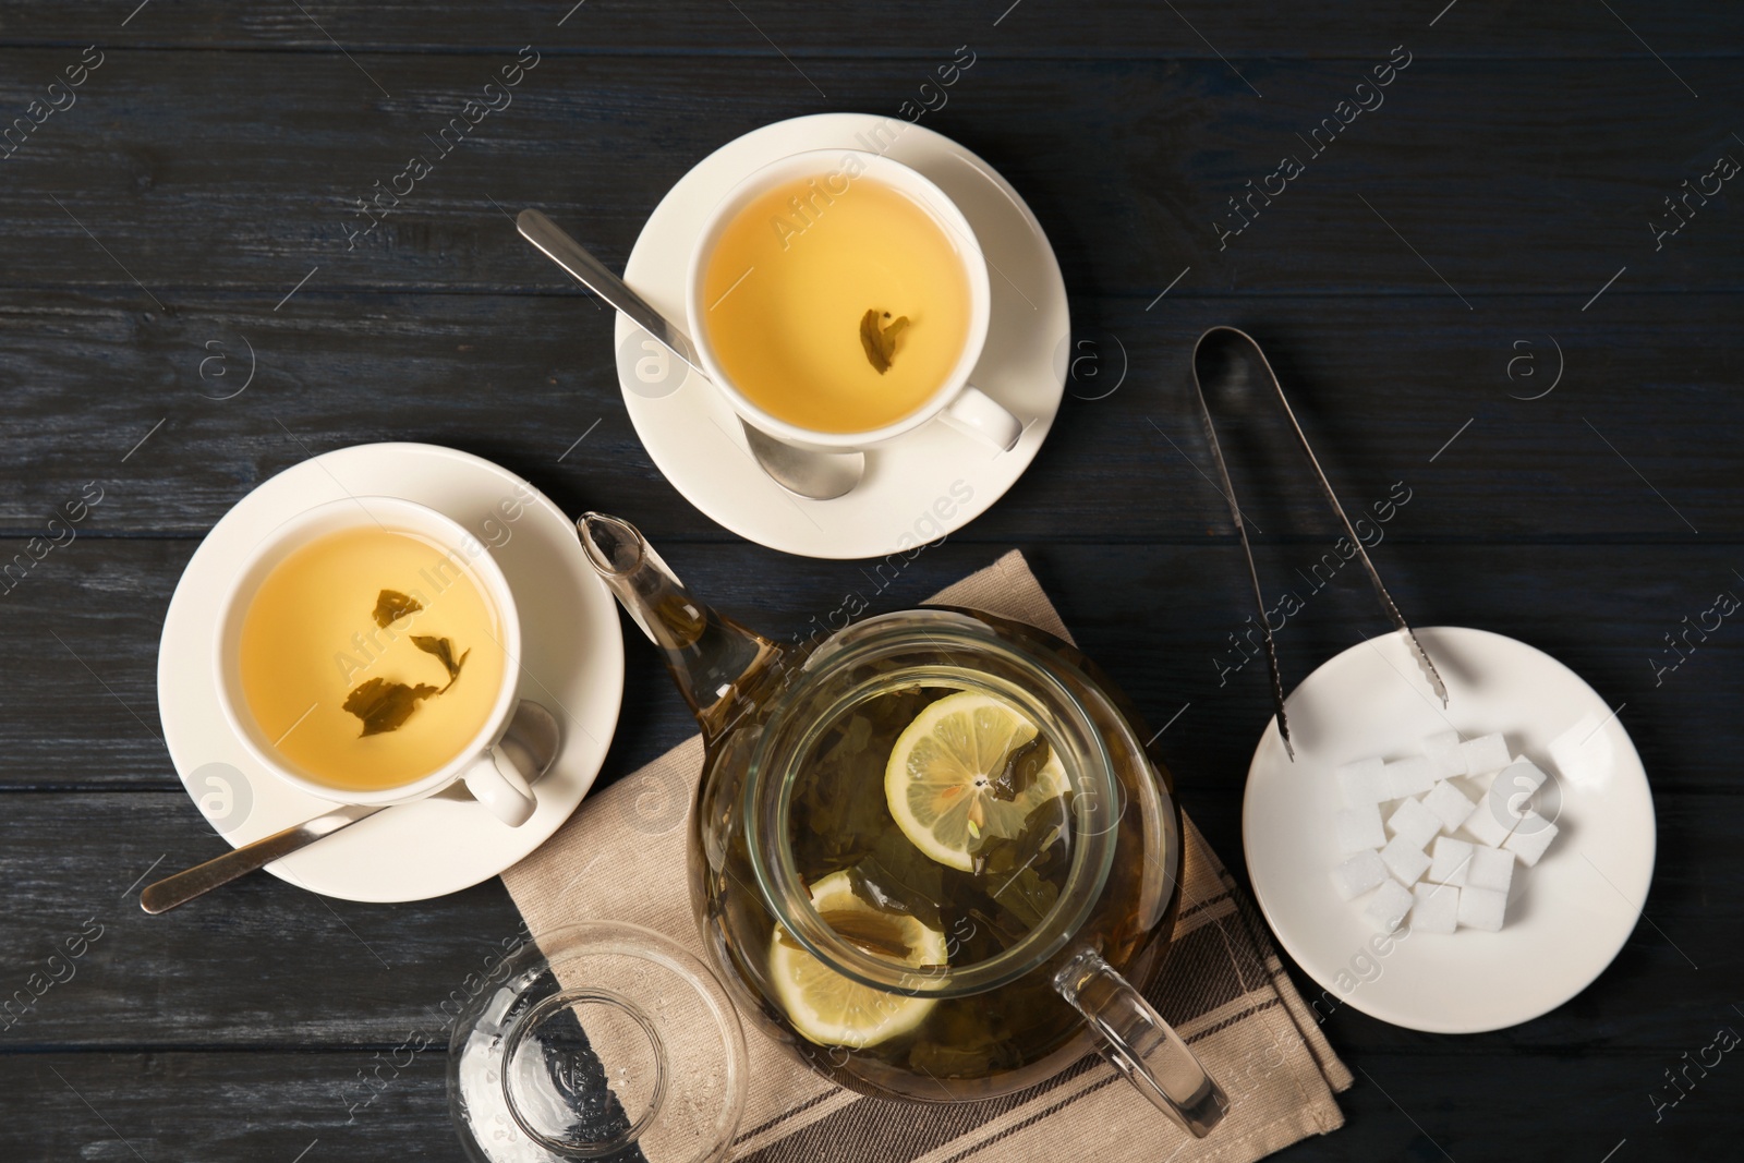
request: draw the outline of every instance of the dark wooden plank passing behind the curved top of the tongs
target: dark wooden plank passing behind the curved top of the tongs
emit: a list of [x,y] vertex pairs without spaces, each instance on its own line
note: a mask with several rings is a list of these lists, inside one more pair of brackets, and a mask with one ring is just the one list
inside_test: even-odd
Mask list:
[[[1400,479],[1416,490],[1404,537],[1735,541],[1744,490],[1721,385],[1744,371],[1727,326],[1744,298],[1611,295],[1604,316],[1507,296],[1482,317],[1451,296],[1332,307],[1170,295],[1149,310],[1078,298],[1074,345],[1059,356],[1069,394],[1034,471],[957,537],[1233,535],[1210,486],[1189,361],[1200,331],[1235,324],[1270,352],[1350,506],[1385,499]],[[642,450],[610,316],[591,300],[303,289],[293,303],[288,314],[208,293],[162,319],[122,291],[0,293],[0,534],[44,532],[98,481],[105,500],[80,527],[89,535],[197,535],[310,453],[410,439],[497,460],[569,513],[617,506],[657,513],[666,539],[731,541]],[[215,399],[242,385],[248,349],[253,384]],[[1549,389],[1557,363],[1556,391],[1519,399]],[[1217,410],[1261,537],[1331,528],[1278,417],[1261,408],[1249,441],[1242,413],[1230,401]],[[963,448],[984,455],[966,438]],[[1259,464],[1277,467],[1245,471]]]

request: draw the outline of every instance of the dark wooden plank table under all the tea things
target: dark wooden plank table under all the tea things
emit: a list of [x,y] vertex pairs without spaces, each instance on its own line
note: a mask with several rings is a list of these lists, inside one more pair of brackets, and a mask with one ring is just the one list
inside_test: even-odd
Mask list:
[[[621,265],[720,143],[905,101],[1031,202],[1085,357],[1024,479],[874,609],[1022,547],[1144,711],[1179,711],[1165,755],[1245,875],[1242,779],[1271,704],[1257,666],[1219,684],[1249,607],[1186,380],[1193,338],[1231,323],[1268,345],[1348,502],[1409,488],[1376,551],[1404,610],[1564,659],[1646,762],[1659,867],[1615,964],[1488,1036],[1341,1006],[1348,1125],[1284,1156],[1737,1154],[1744,1064],[1667,1083],[1744,1027],[1744,624],[1685,636],[1744,595],[1744,187],[1716,171],[1744,162],[1735,5],[133,3],[0,3],[0,994],[30,999],[0,1029],[0,1158],[459,1158],[439,1051],[359,1079],[441,1041],[433,1003],[516,928],[501,882],[384,907],[256,875],[140,912],[143,877],[225,847],[159,734],[169,595],[260,481],[382,439],[623,513],[771,629],[865,589],[855,563],[745,544],[661,479],[609,312],[504,211],[542,206]],[[513,105],[351,237],[356,199],[523,45],[539,63]],[[940,87],[959,45],[975,63]],[[1388,61],[1385,89],[1357,87]],[[1315,152],[1322,119],[1350,124]],[[1285,155],[1301,173],[1271,178]],[[1254,188],[1273,197],[1243,201],[1235,234],[1230,199]],[[225,398],[249,347],[253,382]],[[1282,581],[1334,528],[1275,436],[1242,441],[1264,466],[1242,483]],[[1341,575],[1282,633],[1285,682],[1381,629]],[[628,647],[602,779],[689,731]],[[72,969],[33,976],[80,933]]]

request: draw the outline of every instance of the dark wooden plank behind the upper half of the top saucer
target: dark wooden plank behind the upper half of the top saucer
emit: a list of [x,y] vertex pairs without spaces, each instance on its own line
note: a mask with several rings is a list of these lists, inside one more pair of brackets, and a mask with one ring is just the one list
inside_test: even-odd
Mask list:
[[[251,288],[272,307],[314,269],[303,293],[560,288],[509,213],[541,206],[621,265],[661,195],[719,145],[813,112],[902,124],[930,75],[886,58],[814,63],[823,98],[781,59],[553,56],[443,155],[433,138],[514,56],[108,56],[77,105],[0,160],[12,225],[0,279],[134,291],[138,279],[136,303],[155,314],[194,288]],[[0,51],[0,73],[19,78],[0,108],[23,112],[75,59]],[[1177,291],[1446,296],[1435,307],[1451,321],[1467,307],[1442,279],[1468,302],[1566,296],[1570,314],[1622,265],[1617,291],[1744,286],[1735,197],[1699,207],[1659,249],[1648,228],[1720,153],[1744,160],[1727,112],[1744,106],[1735,61],[1679,63],[1704,99],[1669,77],[1669,94],[1641,99],[1641,70],[1657,65],[1414,59],[1317,155],[1313,129],[1386,61],[1386,42],[1353,61],[1254,61],[1243,71],[1270,91],[1261,99],[1219,61],[987,59],[921,124],[1022,190],[1078,295],[1149,300],[1191,267]],[[1603,131],[1570,134],[1582,119]],[[394,206],[413,155],[433,171]],[[1242,221],[1230,199],[1263,190],[1284,157],[1303,173],[1275,180],[1275,202],[1254,201],[1252,225],[1224,239],[1214,223]],[[352,244],[370,223],[354,202],[375,183],[392,213]]]

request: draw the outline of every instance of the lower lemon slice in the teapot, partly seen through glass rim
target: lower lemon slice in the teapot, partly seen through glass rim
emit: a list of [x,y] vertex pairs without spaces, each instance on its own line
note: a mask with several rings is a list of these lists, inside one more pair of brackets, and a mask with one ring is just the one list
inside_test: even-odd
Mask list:
[[[914,917],[874,908],[855,894],[848,872],[832,872],[811,889],[813,907],[828,919],[849,914],[855,929],[903,947],[902,962],[914,968],[945,964],[945,935]],[[917,1027],[937,1004],[930,997],[888,994],[853,982],[828,968],[776,926],[769,940],[769,976],[788,1020],[821,1046],[874,1046]],[[891,957],[898,961],[898,957]]]

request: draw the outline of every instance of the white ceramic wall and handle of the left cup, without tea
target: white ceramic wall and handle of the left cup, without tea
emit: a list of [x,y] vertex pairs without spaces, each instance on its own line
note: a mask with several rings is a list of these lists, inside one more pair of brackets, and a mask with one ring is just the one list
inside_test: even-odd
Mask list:
[[[506,656],[502,689],[473,741],[439,769],[410,783],[375,790],[335,788],[291,767],[272,741],[262,734],[255,715],[248,710],[239,675],[242,619],[267,574],[310,541],[358,527],[382,527],[412,534],[466,568],[485,591],[487,602],[497,610],[501,645]],[[455,779],[462,779],[473,799],[488,807],[497,820],[518,826],[527,823],[537,807],[530,786],[535,772],[520,771],[514,758],[499,743],[518,704],[516,659],[520,656],[521,622],[514,612],[514,595],[509,593],[509,584],[490,558],[490,551],[476,537],[441,513],[410,500],[354,497],[307,509],[279,525],[255,546],[225,596],[223,614],[218,617],[215,666],[218,670],[218,703],[223,706],[230,729],[262,767],[291,786],[340,804],[385,806],[434,795]]]

